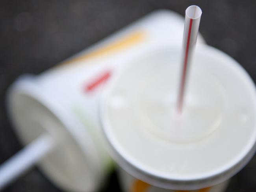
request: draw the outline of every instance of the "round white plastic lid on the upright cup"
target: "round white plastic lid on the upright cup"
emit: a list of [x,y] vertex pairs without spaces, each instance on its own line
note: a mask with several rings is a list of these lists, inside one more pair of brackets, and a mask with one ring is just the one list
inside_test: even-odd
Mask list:
[[197,190],[226,181],[253,156],[256,90],[234,59],[198,46],[179,119],[179,60],[178,50],[162,48],[127,61],[102,95],[100,119],[112,157],[129,174]]

